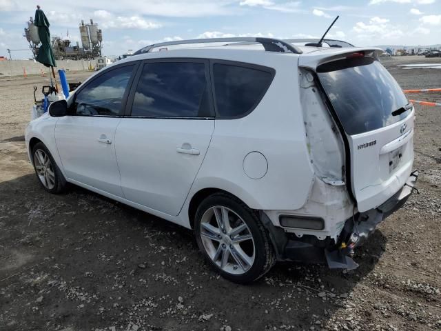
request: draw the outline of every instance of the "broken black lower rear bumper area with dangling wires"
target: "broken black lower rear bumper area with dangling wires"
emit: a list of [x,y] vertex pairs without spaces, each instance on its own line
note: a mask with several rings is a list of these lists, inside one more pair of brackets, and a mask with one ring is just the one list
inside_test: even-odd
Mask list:
[[304,235],[301,238],[290,236],[281,228],[268,228],[269,219],[267,221],[265,217],[261,219],[269,230],[279,261],[327,263],[329,268],[355,269],[358,264],[351,258],[353,250],[367,241],[382,220],[402,208],[413,190],[416,190],[417,179],[418,171],[412,172],[401,190],[382,205],[367,212],[354,214],[347,219],[337,243],[329,237],[318,240],[314,236]]

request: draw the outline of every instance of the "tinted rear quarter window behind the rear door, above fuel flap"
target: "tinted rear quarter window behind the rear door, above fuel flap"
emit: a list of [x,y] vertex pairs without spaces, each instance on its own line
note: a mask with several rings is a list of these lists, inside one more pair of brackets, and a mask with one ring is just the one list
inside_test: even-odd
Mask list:
[[218,117],[243,117],[267,92],[274,70],[214,63],[214,94]]

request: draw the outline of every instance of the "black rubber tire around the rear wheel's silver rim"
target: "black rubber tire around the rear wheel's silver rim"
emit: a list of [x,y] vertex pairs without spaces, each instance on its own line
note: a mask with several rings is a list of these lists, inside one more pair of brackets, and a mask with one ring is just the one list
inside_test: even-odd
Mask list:
[[[249,232],[252,234],[254,241],[254,263],[249,270],[243,274],[225,272],[225,270],[220,268],[220,265],[214,263],[205,249],[201,237],[201,221],[205,212],[214,206],[225,207],[236,213],[243,222],[246,223]],[[258,218],[258,212],[250,209],[245,203],[229,194],[220,192],[212,194],[204,199],[196,211],[194,228],[196,241],[199,249],[205,256],[205,259],[207,259],[209,265],[214,268],[216,272],[229,281],[233,281],[234,283],[250,283],[256,281],[266,274],[272,268],[274,263],[276,263],[276,254],[271,245],[271,239],[269,239],[267,230],[265,230],[262,222]]]

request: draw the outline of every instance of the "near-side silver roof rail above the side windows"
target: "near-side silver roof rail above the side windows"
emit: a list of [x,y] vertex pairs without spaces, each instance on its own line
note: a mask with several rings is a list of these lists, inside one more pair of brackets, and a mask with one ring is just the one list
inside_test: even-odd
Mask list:
[[292,46],[286,41],[282,41],[274,38],[260,38],[260,37],[233,37],[233,38],[208,38],[208,39],[189,39],[189,40],[177,40],[177,41],[167,41],[165,43],[154,43],[150,46],[145,46],[141,50],[134,52],[134,55],[148,53],[154,48],[172,45],[187,45],[191,43],[236,43],[236,42],[246,42],[246,43],[261,43],[263,48],[269,52],[283,52],[283,53],[295,53],[300,54],[302,51],[296,47]]

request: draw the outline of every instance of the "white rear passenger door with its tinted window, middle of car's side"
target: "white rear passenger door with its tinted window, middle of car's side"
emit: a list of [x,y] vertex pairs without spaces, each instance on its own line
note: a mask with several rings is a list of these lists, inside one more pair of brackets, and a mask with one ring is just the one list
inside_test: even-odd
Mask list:
[[147,60],[116,129],[125,198],[176,216],[214,131],[208,61]]

